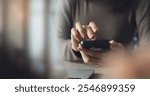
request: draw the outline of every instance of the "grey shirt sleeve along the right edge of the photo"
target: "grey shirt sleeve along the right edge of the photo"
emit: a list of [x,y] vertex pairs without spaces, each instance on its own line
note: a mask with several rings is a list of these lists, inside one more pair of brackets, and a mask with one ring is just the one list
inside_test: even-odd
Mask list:
[[139,47],[150,43],[150,0],[134,0]]

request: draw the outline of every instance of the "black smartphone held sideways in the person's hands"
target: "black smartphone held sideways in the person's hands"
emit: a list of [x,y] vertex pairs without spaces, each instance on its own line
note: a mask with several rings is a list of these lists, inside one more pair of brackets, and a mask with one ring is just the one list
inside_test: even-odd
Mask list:
[[81,41],[81,46],[86,49],[96,50],[96,51],[108,51],[110,50],[109,40],[85,40]]

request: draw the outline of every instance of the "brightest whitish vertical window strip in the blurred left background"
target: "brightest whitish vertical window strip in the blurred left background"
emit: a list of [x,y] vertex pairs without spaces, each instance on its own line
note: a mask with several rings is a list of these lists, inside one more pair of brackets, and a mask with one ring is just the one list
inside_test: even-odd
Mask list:
[[37,59],[44,51],[44,1],[29,1],[28,44],[31,56]]

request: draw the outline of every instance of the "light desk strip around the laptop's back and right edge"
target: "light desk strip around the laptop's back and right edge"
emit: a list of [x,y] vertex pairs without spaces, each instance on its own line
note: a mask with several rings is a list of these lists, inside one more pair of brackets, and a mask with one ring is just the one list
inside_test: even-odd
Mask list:
[[95,70],[95,73],[91,76],[90,79],[99,79],[101,77],[101,74],[103,73],[102,68],[100,67],[98,68],[98,67],[83,64],[83,63],[65,61],[65,66],[67,69],[93,69]]

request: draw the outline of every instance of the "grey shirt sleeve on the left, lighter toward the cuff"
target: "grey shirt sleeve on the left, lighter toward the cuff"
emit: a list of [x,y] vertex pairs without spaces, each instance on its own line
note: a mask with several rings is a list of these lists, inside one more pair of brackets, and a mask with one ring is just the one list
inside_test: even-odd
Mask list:
[[56,32],[59,36],[60,48],[65,60],[81,61],[80,53],[71,48],[71,28],[74,24],[76,0],[58,0],[56,12]]

